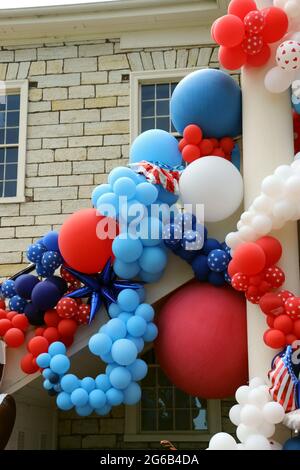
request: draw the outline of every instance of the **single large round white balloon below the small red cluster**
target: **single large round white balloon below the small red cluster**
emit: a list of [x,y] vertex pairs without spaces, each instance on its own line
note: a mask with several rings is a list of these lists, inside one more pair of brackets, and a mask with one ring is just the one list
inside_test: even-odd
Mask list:
[[243,200],[243,179],[236,167],[221,157],[202,157],[192,162],[179,181],[182,202],[191,204],[194,214],[204,205],[204,220],[227,219]]

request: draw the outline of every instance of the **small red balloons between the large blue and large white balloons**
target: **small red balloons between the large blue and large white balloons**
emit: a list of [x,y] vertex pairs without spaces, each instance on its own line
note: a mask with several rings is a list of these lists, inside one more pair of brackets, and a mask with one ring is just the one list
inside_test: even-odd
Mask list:
[[231,137],[223,137],[220,140],[205,139],[201,127],[190,124],[183,131],[183,139],[179,142],[179,150],[182,153],[183,160],[187,163],[208,155],[226,158],[230,161],[234,145],[234,140]]

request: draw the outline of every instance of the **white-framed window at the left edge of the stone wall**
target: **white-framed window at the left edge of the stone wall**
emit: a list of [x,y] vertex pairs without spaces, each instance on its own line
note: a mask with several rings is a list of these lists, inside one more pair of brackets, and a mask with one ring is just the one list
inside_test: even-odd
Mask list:
[[0,202],[22,202],[28,82],[0,84]]

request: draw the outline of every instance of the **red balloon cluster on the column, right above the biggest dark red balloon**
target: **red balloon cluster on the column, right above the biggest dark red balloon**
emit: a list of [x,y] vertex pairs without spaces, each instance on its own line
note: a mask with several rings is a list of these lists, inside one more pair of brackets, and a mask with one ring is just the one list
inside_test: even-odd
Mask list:
[[281,254],[281,243],[270,236],[239,245],[228,266],[232,287],[245,292],[251,303],[259,303],[264,294],[285,281],[284,272],[276,265]]

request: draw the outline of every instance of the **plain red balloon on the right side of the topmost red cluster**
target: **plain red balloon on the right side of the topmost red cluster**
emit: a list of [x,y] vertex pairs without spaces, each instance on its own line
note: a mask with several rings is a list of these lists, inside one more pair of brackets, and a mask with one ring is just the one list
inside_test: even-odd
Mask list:
[[289,20],[282,8],[269,7],[263,8],[261,13],[265,17],[265,26],[262,31],[265,42],[277,42],[288,30]]

